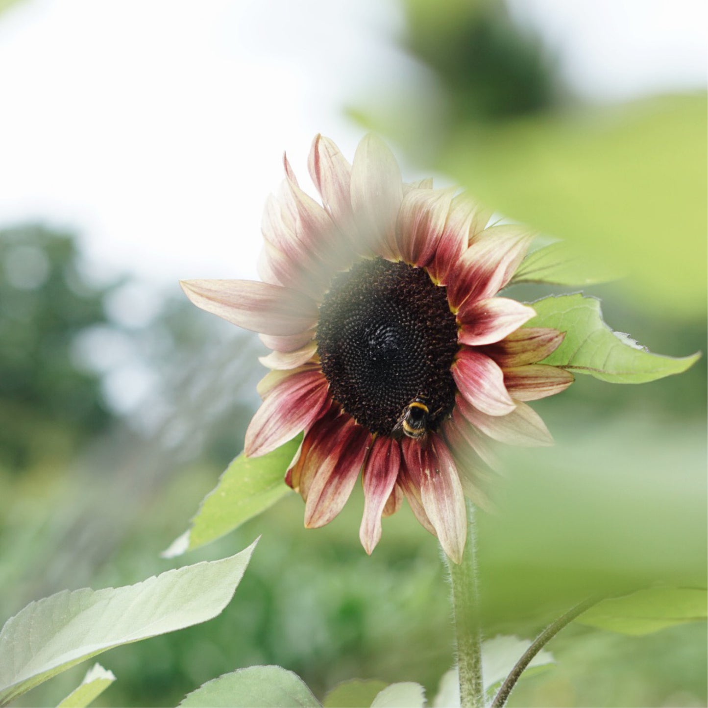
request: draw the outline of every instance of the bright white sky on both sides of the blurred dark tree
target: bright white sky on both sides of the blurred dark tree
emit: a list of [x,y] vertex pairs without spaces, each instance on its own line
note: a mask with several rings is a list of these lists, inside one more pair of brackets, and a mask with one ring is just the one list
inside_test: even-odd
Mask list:
[[[515,0],[578,93],[705,86],[708,4]],[[342,107],[415,71],[384,0],[25,0],[0,17],[0,226],[73,227],[109,272],[255,278],[265,196]]]

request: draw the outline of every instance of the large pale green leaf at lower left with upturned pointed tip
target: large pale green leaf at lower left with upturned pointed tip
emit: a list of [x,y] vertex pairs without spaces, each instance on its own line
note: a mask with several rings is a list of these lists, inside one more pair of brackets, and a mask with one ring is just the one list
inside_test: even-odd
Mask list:
[[0,632],[0,704],[114,646],[216,617],[256,547],[122,588],[83,588],[30,603]]

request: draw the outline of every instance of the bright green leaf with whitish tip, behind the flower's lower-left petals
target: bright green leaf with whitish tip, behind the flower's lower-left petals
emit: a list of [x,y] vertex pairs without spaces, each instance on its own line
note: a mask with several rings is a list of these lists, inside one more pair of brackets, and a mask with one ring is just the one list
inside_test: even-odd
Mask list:
[[301,440],[298,435],[263,457],[236,457],[202,500],[190,529],[162,555],[173,558],[215,541],[287,496],[292,490],[283,476]]

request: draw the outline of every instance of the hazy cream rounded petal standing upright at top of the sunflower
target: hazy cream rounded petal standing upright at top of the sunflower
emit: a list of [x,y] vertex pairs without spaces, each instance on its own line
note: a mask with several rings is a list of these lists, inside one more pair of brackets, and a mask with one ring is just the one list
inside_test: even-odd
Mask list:
[[403,199],[401,171],[393,153],[375,135],[366,135],[354,155],[351,200],[362,253],[397,256],[396,217]]

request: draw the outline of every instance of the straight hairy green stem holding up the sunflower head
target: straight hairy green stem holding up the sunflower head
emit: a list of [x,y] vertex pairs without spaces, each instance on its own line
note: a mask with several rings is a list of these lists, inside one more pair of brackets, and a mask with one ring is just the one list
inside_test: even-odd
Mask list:
[[452,581],[452,611],[457,636],[459,704],[462,708],[484,708],[482,683],[481,627],[477,588],[476,525],[474,506],[467,502],[467,544],[462,562],[448,561]]

